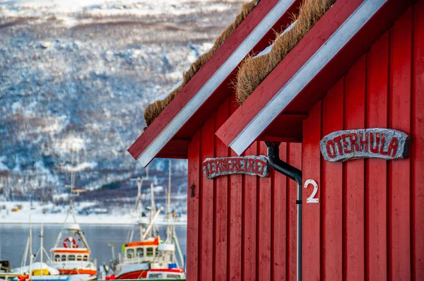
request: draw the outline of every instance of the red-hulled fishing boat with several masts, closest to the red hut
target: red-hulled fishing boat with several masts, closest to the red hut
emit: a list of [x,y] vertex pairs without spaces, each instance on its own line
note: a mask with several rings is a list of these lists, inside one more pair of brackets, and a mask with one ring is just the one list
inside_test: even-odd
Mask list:
[[[163,279],[175,279],[175,277],[185,277],[184,258],[182,257],[179,241],[175,232],[175,213],[171,213],[171,165],[169,165],[169,179],[167,191],[167,239],[160,239],[159,229],[156,224],[158,215],[163,209],[155,207],[154,186],[151,184],[151,205],[148,206],[150,215],[148,223],[143,217],[143,207],[141,204],[141,186],[144,179],[138,178],[138,193],[135,210],[138,217],[135,225],[139,227],[140,240],[134,241],[135,229],[132,227],[127,243],[122,246],[122,253],[119,254],[119,261],[116,265],[114,275],[107,279],[117,280],[139,280],[156,278],[162,276]],[[179,256],[177,258],[177,253]],[[149,277],[151,276],[151,277]]]

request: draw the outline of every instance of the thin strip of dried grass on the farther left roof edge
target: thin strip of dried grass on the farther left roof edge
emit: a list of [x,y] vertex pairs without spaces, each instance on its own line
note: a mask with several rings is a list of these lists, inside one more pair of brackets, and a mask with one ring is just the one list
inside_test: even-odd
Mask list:
[[242,23],[243,20],[245,20],[247,15],[249,15],[249,13],[253,10],[254,6],[256,6],[256,2],[257,0],[252,0],[242,6],[242,11],[240,12],[240,14],[238,14],[237,18],[235,18],[235,21],[230,26],[228,26],[228,28],[225,29],[224,32],[218,37],[218,39],[215,41],[215,44],[213,44],[211,50],[209,50],[209,52],[207,52],[206,54],[199,56],[199,58],[194,61],[192,66],[190,66],[189,70],[183,74],[182,84],[177,89],[172,91],[170,95],[165,97],[164,100],[158,100],[146,107],[146,110],[144,111],[144,119],[146,120],[147,126],[149,126],[153,122],[153,120],[155,120],[155,118],[160,114],[160,112],[162,112],[163,109],[165,109],[165,107],[170,104],[170,102],[174,99],[176,95],[178,95],[182,88],[187,85],[189,80],[193,78],[194,74],[196,74],[197,71],[199,71],[199,69],[204,66],[204,64],[206,64],[206,61],[211,59],[211,56],[215,54],[216,50],[220,47],[220,45],[223,44],[223,42],[225,42],[228,37],[230,37],[231,33],[237,28],[237,26],[240,25],[240,23]]

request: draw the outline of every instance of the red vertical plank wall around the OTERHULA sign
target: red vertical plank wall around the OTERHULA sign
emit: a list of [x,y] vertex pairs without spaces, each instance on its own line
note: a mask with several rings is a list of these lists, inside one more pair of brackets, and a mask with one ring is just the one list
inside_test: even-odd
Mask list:
[[[418,1],[361,57],[303,124],[305,280],[424,280],[424,5]],[[406,160],[326,162],[319,140],[351,128],[412,136]],[[317,156],[318,155],[318,156]]]

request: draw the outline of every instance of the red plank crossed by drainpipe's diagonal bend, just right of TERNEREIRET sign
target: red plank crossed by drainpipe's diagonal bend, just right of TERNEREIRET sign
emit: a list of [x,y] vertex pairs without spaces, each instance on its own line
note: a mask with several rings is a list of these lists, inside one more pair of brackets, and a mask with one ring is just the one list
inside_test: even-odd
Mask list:
[[[287,161],[287,143],[280,145],[280,159]],[[271,264],[272,280],[285,280],[285,245],[287,240],[287,177],[278,172],[273,176],[273,210],[271,221],[273,222],[273,263]]]

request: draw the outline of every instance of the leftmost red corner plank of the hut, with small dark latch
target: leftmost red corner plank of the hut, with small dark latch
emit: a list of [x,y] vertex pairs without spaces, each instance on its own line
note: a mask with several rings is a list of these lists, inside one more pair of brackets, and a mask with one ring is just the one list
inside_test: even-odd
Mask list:
[[[189,145],[187,188],[187,280],[199,280],[199,184],[200,184],[200,132]],[[194,185],[194,197],[189,188]]]

